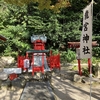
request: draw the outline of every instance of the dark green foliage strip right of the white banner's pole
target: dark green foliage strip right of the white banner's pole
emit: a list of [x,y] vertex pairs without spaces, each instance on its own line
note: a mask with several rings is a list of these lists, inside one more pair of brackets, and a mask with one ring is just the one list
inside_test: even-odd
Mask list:
[[100,56],[100,0],[95,0],[93,5],[93,40],[97,41],[99,47],[93,48],[93,55],[97,58]]

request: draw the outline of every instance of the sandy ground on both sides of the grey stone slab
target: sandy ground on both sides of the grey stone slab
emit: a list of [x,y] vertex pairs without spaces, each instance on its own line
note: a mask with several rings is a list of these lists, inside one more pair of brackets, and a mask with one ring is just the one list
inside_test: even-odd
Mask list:
[[[52,77],[52,89],[53,94],[55,95],[55,100],[100,100],[100,84],[92,85],[90,94],[90,85],[84,83],[74,83],[72,82],[71,77],[74,73],[68,74],[65,69],[62,69],[61,71],[67,75],[67,78],[62,78],[57,74],[53,74]],[[20,100],[22,92],[23,89],[11,91],[1,89],[0,100]],[[29,91],[26,95],[30,93],[31,91]]]

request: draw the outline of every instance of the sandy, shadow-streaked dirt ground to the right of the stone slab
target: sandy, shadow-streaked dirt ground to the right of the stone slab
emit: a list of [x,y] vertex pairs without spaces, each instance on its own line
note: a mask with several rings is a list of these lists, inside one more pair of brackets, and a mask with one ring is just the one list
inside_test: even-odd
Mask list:
[[[100,84],[90,85],[84,83],[74,83],[72,74],[68,74],[66,70],[62,70],[67,78],[62,78],[58,75],[53,75],[52,85],[56,100],[100,100]],[[91,96],[90,96],[91,95]]]

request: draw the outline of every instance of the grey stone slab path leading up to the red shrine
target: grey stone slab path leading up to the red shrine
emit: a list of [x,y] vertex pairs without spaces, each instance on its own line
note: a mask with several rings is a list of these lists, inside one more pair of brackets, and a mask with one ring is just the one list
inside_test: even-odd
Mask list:
[[20,100],[55,100],[48,82],[28,82]]

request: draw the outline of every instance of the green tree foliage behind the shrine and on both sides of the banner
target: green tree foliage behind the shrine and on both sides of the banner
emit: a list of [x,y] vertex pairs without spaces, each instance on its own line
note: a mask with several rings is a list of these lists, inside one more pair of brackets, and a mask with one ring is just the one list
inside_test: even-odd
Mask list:
[[[71,6],[61,8],[60,13],[54,13],[50,9],[40,11],[38,3],[27,3],[21,7],[0,2],[0,34],[8,38],[6,42],[0,44],[0,54],[15,56],[19,52],[24,54],[27,49],[32,48],[30,42],[32,34],[45,34],[46,49],[53,49],[54,54],[60,51],[61,59],[67,62],[76,59],[74,51],[67,48],[67,42],[80,40],[82,9],[88,4],[86,1],[70,0]],[[52,4],[55,5],[56,1],[52,0]],[[94,5],[93,40],[97,40],[100,44],[99,7],[98,1],[97,5]],[[93,48],[93,52],[95,52],[93,56],[99,58],[100,47]]]

